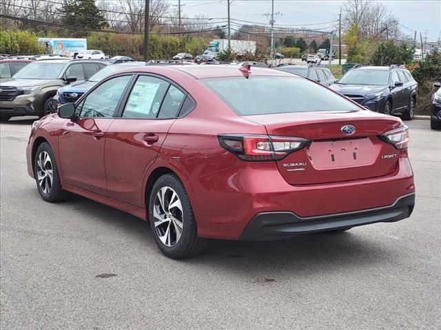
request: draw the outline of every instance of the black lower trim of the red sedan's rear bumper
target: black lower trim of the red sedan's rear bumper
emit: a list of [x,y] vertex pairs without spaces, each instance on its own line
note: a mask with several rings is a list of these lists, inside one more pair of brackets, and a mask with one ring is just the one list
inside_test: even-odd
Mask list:
[[320,217],[298,217],[293,212],[262,212],[250,221],[240,235],[242,241],[289,239],[296,234],[322,232],[378,222],[395,222],[410,217],[415,194],[399,197],[391,206],[329,214]]

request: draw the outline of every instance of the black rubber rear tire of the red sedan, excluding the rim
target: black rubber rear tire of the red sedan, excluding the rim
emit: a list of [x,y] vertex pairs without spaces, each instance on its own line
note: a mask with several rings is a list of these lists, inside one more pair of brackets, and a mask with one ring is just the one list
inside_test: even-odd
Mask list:
[[[156,230],[154,223],[154,208],[156,207],[156,210],[161,210],[158,209],[157,204],[155,206],[155,200],[157,201],[156,195],[161,188],[172,188],[172,190],[176,192],[176,195],[178,195],[178,199],[181,201],[183,211],[181,217],[183,223],[182,232],[180,239],[178,239],[177,243],[175,243],[173,246],[167,246],[166,243],[161,241],[158,230]],[[169,203],[169,205],[171,205],[171,203]],[[158,245],[159,250],[161,250],[161,252],[163,252],[163,254],[169,258],[183,259],[190,256],[196,256],[204,252],[205,248],[207,247],[207,239],[198,237],[196,221],[194,220],[193,210],[192,206],[190,205],[187,192],[185,192],[185,188],[181,180],[179,180],[174,174],[165,174],[162,177],[159,177],[159,179],[155,182],[149,201],[149,221],[150,230],[152,231],[156,245]],[[176,233],[176,227],[170,229],[172,227],[172,221],[168,222],[168,226],[170,231],[174,230]],[[158,228],[159,227],[160,225],[158,225]]]

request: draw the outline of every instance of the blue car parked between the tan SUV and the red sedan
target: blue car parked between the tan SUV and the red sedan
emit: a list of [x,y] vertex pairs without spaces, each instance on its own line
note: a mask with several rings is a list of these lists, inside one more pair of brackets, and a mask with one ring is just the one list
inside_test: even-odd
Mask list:
[[81,96],[83,96],[85,92],[93,88],[101,80],[107,78],[107,76],[110,76],[111,74],[114,74],[119,70],[127,69],[127,67],[141,67],[145,65],[147,65],[147,63],[145,62],[125,62],[108,65],[107,67],[104,67],[99,72],[96,72],[96,74],[84,81],[61,87],[58,89],[57,94],[55,94],[54,96],[54,100],[57,103],[54,109],[57,109],[59,104],[75,102],[76,100],[81,98]]

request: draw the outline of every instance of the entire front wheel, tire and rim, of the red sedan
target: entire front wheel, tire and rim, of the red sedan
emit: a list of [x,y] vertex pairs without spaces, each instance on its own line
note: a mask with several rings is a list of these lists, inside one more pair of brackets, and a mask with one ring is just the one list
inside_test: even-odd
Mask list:
[[69,193],[61,188],[55,155],[47,142],[39,145],[34,160],[34,177],[45,201],[63,201]]

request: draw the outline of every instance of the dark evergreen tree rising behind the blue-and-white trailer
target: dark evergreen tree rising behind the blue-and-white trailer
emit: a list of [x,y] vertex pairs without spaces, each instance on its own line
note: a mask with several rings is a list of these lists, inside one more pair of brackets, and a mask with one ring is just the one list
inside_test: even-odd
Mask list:
[[[95,0],[65,0],[61,8],[61,22],[79,28],[102,29],[108,26],[102,12],[96,7]],[[87,36],[88,32],[74,30],[75,36]]]

